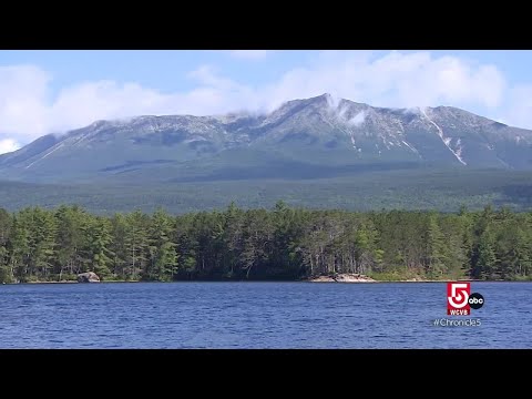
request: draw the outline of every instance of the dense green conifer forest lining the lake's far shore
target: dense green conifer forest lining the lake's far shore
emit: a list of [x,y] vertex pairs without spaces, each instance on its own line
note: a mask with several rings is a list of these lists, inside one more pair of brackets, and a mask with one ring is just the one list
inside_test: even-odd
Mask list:
[[532,213],[270,211],[93,215],[79,206],[0,209],[0,282],[531,279]]

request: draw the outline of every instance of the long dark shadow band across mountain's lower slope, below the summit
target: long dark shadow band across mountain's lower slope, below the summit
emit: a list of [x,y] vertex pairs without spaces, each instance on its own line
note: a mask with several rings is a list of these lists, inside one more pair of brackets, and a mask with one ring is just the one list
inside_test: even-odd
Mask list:
[[172,178],[173,183],[191,183],[191,182],[215,182],[215,181],[238,181],[238,180],[260,180],[260,178],[280,178],[280,180],[314,180],[339,177],[344,175],[352,175],[358,173],[386,172],[397,170],[415,170],[419,168],[419,163],[415,162],[397,162],[382,164],[356,164],[339,166],[323,166],[293,161],[283,161],[272,163],[267,166],[242,166],[242,167],[222,167],[213,173],[182,176]]

